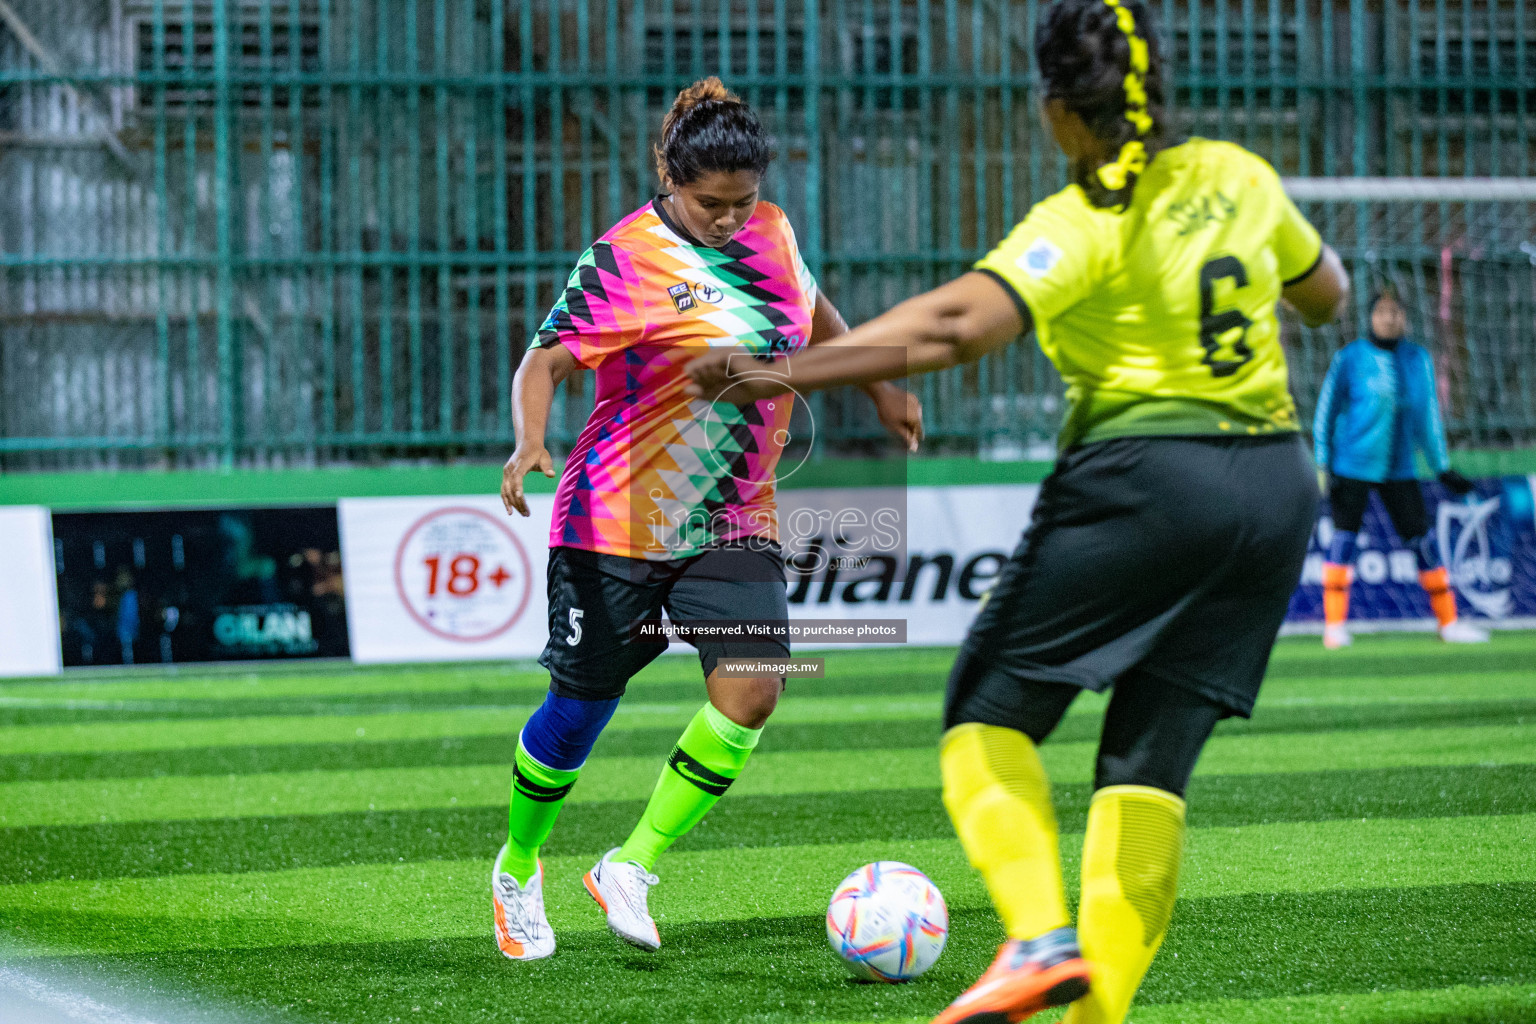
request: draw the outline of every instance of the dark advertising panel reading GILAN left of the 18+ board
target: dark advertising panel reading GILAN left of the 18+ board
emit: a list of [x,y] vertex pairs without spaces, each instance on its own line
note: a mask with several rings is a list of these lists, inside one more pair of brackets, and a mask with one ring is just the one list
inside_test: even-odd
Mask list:
[[55,513],[63,663],[347,657],[332,508]]

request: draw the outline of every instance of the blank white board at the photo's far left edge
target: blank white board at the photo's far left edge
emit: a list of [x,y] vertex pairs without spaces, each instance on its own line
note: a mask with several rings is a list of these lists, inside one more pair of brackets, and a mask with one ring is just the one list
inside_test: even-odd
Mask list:
[[54,530],[46,508],[0,507],[0,676],[60,671]]

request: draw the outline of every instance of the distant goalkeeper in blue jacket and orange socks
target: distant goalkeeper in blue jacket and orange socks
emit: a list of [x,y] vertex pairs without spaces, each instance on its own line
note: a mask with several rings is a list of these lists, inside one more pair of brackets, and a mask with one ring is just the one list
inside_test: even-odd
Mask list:
[[1435,395],[1435,362],[1404,333],[1407,316],[1390,292],[1370,302],[1370,333],[1344,345],[1318,396],[1312,424],[1313,451],[1329,476],[1333,539],[1322,563],[1322,646],[1349,646],[1350,563],[1366,502],[1381,496],[1393,530],[1419,563],[1419,583],[1430,596],[1441,639],[1448,643],[1484,643],[1487,631],[1456,617],[1456,594],[1441,565],[1439,545],[1415,479],[1413,453],[1447,490],[1471,491],[1471,481],[1450,468],[1445,427]]

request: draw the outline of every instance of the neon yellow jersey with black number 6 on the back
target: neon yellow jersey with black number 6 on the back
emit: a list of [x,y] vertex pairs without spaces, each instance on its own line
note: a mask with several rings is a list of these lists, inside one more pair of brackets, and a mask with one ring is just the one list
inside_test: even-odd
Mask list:
[[1061,447],[1130,434],[1293,431],[1275,302],[1322,239],[1241,146],[1164,149],[1123,212],[1072,184],[975,264],[1068,382]]

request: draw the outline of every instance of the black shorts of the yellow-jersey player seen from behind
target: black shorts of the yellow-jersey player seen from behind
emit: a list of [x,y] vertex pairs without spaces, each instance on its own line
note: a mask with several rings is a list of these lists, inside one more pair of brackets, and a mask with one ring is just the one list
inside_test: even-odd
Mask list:
[[960,648],[945,728],[1023,729],[1021,683],[1103,691],[1132,669],[1247,715],[1316,507],[1296,434],[1068,451]]

